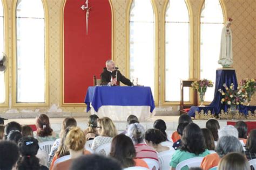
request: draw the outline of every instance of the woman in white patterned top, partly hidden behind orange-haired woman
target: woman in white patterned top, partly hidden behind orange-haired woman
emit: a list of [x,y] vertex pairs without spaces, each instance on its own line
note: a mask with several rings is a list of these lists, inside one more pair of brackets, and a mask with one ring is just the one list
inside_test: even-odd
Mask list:
[[[62,127],[60,129],[59,137],[58,139],[55,140],[51,147],[51,151],[49,154],[49,162],[52,161],[53,156],[55,155],[55,152],[58,150],[58,147],[60,144],[64,143],[65,138],[66,138],[66,132],[65,130],[69,127],[77,126],[77,121],[76,119],[72,117],[66,117],[63,122],[62,122]],[[64,139],[64,141],[62,140]],[[63,142],[62,142],[63,141]]]

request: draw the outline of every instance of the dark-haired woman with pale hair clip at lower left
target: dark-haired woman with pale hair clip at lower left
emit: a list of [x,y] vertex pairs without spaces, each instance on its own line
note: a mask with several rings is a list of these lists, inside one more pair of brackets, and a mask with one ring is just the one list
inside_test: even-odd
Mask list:
[[48,169],[39,164],[39,159],[36,157],[39,149],[37,139],[33,137],[23,137],[18,142],[21,158],[17,162],[17,170],[36,170]]

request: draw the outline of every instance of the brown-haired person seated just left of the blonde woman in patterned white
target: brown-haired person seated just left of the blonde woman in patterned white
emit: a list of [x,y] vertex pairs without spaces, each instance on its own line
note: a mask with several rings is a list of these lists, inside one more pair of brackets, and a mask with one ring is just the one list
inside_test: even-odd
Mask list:
[[98,131],[97,131],[98,118],[99,117],[97,115],[89,116],[89,119],[87,122],[88,128],[84,131],[87,140],[93,140],[96,136],[98,136]]

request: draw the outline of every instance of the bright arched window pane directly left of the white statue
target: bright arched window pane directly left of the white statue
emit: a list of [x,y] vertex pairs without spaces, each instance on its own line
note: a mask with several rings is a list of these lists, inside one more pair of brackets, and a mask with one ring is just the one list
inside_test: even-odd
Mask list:
[[[221,30],[224,24],[224,15],[218,0],[205,0],[200,17],[200,79],[209,79],[214,82],[220,53]],[[205,101],[212,101],[214,87],[208,88]]]

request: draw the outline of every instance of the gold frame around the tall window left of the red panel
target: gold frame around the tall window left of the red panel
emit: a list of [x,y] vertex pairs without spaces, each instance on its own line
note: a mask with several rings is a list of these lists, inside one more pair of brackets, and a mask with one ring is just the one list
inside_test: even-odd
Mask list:
[[12,2],[12,106],[13,107],[43,107],[49,106],[49,12],[46,0],[42,0],[44,8],[44,27],[45,27],[45,103],[17,103],[17,89],[16,89],[16,6],[17,1]]

